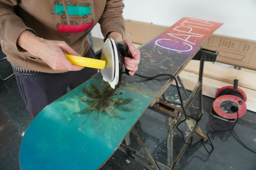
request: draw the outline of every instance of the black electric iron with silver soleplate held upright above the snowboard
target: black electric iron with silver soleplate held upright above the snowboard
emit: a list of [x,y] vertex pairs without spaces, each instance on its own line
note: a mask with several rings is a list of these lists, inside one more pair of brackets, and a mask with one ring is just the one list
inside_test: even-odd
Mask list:
[[[114,89],[122,78],[123,57],[131,57],[128,47],[121,42],[115,42],[112,38],[108,38],[102,48],[101,60],[106,62],[104,69],[101,69],[103,80],[109,82]],[[125,68],[125,73],[129,74]]]

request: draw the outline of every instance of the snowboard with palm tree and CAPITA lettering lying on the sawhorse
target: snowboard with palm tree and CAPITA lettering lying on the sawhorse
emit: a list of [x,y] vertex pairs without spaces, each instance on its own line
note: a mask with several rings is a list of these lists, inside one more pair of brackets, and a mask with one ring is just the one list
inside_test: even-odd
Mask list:
[[[141,60],[136,73],[177,76],[221,25],[180,19],[139,47]],[[170,81],[170,77],[146,80],[123,74],[112,89],[97,73],[35,117],[21,142],[20,168],[99,169]]]

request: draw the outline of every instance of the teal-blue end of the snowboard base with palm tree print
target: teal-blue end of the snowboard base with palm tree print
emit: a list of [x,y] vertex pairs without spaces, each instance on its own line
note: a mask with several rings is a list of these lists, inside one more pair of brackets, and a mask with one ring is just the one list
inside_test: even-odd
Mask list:
[[95,75],[31,122],[20,148],[21,168],[99,168],[152,99],[135,88],[112,89],[100,73]]

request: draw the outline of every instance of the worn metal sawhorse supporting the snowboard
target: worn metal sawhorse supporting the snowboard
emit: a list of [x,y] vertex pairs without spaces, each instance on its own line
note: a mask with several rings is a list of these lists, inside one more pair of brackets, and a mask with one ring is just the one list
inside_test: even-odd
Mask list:
[[[190,129],[190,134],[186,139],[186,143],[190,142],[190,139],[194,133],[202,137],[204,140],[207,140],[206,135],[204,135],[201,129],[199,128],[199,123],[200,123],[202,114],[204,113],[202,108],[202,78],[203,78],[203,71],[204,71],[204,61],[214,62],[216,60],[218,53],[219,53],[218,51],[212,51],[212,50],[202,48],[194,56],[193,60],[200,60],[199,77],[198,77],[198,83],[190,95],[188,95],[180,77],[177,76],[177,80],[187,97],[184,103],[185,110],[191,107],[191,108],[196,108],[199,111],[199,112],[191,112],[190,115],[187,114],[186,124]],[[192,103],[196,95],[198,95],[199,107],[194,107]],[[165,117],[165,123],[167,125],[167,164],[163,164],[153,159],[152,155],[146,148],[145,144],[143,143],[141,137],[139,136],[138,132],[134,127],[132,127],[131,131],[134,134],[137,141],[139,142],[140,146],[142,147],[144,153],[141,153],[131,147],[130,132],[125,137],[125,144],[121,143],[118,149],[120,149],[127,155],[130,155],[136,161],[141,162],[148,169],[160,169],[159,165],[161,165],[161,167],[164,167],[164,169],[175,169],[178,161],[182,158],[182,155],[184,154],[188,145],[184,143],[177,158],[174,160],[173,131],[177,127],[178,122],[184,119],[184,112],[183,110],[180,110],[179,108],[174,107],[171,104],[180,105],[180,103],[178,102],[167,100],[165,94],[163,93],[161,99],[158,98],[155,104],[153,104],[153,106],[148,107],[148,109],[154,110],[157,113],[164,115]],[[149,162],[151,163],[151,165],[148,164]]]

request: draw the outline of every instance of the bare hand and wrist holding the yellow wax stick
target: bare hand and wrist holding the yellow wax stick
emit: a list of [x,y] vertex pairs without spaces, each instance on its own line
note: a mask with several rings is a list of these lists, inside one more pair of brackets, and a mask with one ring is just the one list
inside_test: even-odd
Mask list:
[[41,58],[54,70],[78,71],[84,67],[71,64],[67,54],[81,56],[64,41],[45,40],[29,31],[20,34],[17,45],[27,50],[33,56]]

